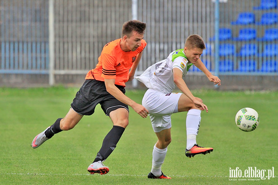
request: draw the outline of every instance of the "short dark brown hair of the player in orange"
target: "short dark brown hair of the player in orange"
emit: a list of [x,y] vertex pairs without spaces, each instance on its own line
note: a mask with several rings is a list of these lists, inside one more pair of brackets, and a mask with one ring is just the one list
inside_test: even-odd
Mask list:
[[126,35],[127,37],[130,37],[131,33],[133,31],[135,31],[141,35],[144,35],[145,29],[146,29],[146,23],[142,23],[141,21],[138,21],[138,20],[127,21],[123,25],[122,37],[124,35]]

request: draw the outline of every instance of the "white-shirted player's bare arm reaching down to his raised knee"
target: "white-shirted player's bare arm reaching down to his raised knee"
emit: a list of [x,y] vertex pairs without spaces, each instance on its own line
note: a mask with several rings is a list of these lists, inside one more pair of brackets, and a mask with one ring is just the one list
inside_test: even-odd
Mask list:
[[183,92],[183,94],[185,94],[195,104],[196,107],[200,108],[201,110],[206,110],[208,112],[208,107],[204,103],[199,101],[196,97],[194,97],[189,88],[187,87],[185,81],[183,80],[183,72],[179,68],[173,68],[172,70],[174,82],[179,88],[179,90],[181,90],[181,92]]

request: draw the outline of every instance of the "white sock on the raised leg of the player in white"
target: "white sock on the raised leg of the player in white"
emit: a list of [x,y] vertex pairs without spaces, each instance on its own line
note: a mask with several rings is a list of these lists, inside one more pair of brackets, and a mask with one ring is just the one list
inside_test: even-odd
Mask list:
[[199,132],[201,122],[201,110],[190,109],[186,117],[186,149],[191,149],[196,144],[196,136]]

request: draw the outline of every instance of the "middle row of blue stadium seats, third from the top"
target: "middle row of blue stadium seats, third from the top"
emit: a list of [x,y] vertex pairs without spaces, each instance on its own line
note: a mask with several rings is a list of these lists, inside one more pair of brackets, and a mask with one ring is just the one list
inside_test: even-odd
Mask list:
[[[234,40],[234,41],[273,41],[278,39],[278,28],[268,28],[264,31],[263,37],[257,38],[257,31],[254,28],[242,28],[239,30],[238,37],[232,37],[232,30],[230,28],[219,29],[219,41]],[[210,38],[210,41],[214,41],[215,36]]]

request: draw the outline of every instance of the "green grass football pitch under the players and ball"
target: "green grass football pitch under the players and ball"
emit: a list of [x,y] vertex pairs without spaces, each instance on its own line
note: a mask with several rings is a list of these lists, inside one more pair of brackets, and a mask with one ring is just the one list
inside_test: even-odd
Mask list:
[[[278,92],[221,92],[196,90],[209,112],[202,112],[197,143],[212,153],[185,156],[187,112],[172,115],[172,142],[162,171],[172,179],[147,179],[156,136],[150,119],[130,108],[129,125],[105,161],[106,175],[89,175],[87,167],[99,151],[112,122],[98,105],[73,130],[64,131],[32,149],[36,134],[64,117],[78,88],[0,88],[0,184],[278,184]],[[141,103],[144,91],[127,89]],[[251,107],[260,115],[256,130],[239,130],[237,111]],[[230,178],[230,168],[244,175],[248,167],[264,177],[274,167],[274,178]],[[254,180],[255,179],[255,180]],[[251,181],[252,180],[252,181]]]

